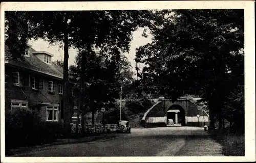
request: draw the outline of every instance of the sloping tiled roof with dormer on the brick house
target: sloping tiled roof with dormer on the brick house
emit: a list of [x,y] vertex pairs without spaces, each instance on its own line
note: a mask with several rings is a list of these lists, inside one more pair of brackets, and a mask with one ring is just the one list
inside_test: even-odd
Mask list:
[[[8,49],[8,46],[5,45],[5,55],[7,57],[6,61],[8,61],[7,63],[27,68],[30,70],[34,70],[43,74],[51,75],[54,77],[63,78],[63,70],[54,62],[52,62],[51,65],[47,64],[45,62],[42,62],[33,54],[30,54],[30,57],[24,57],[24,59],[13,60]],[[31,48],[31,50],[37,52],[33,48]]]

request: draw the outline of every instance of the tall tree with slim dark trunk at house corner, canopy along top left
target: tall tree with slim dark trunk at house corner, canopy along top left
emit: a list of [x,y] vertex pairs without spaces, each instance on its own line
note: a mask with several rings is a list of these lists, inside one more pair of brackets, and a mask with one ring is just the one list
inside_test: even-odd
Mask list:
[[[26,11],[10,12],[6,17],[7,33],[13,39],[22,37],[22,50],[16,50],[20,57],[23,56],[25,43],[28,39],[43,38],[51,44],[64,48],[63,62],[63,107],[65,112],[65,124],[69,124],[68,109],[68,58],[69,47],[74,47],[80,52],[91,51],[92,47],[99,49],[101,56],[111,57],[112,67],[120,69],[121,52],[129,51],[129,43],[132,32],[142,23],[141,18],[145,11]],[[20,18],[17,19],[17,16]],[[15,22],[20,21],[22,30],[15,31]],[[81,23],[86,21],[87,23]],[[17,22],[19,24],[19,22]],[[18,29],[18,28],[17,28]],[[24,31],[25,30],[25,31]],[[8,42],[8,40],[7,40]],[[9,47],[13,47],[18,40],[9,41]],[[13,48],[15,50],[15,48]],[[88,50],[89,49],[89,50]],[[15,55],[11,52],[11,55]],[[19,57],[17,56],[17,57]],[[86,63],[82,63],[84,65]],[[116,66],[115,66],[116,65]],[[96,84],[95,87],[98,87]],[[67,122],[67,123],[66,123]]]

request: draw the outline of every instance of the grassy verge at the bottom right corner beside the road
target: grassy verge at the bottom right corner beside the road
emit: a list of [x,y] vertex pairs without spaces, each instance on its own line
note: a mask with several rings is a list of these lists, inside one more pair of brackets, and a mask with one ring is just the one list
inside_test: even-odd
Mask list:
[[223,131],[216,131],[213,138],[220,143],[222,153],[225,156],[245,156],[245,138],[244,134],[225,133]]

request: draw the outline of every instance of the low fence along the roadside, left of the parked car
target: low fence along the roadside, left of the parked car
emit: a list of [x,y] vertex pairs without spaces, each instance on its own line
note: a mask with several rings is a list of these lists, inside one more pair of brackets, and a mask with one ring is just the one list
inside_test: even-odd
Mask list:
[[[86,134],[95,134],[95,133],[106,133],[106,132],[115,132],[118,127],[118,124],[84,124],[84,133]],[[82,126],[78,124],[78,133],[81,133]],[[76,132],[76,124],[71,123],[71,133]]]

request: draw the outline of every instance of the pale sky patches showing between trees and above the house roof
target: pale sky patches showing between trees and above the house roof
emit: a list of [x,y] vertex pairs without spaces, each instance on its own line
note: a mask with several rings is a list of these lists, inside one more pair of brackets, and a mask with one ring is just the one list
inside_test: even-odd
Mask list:
[[[131,63],[133,67],[133,71],[136,72],[135,67],[136,67],[136,62],[134,61],[135,59],[135,54],[136,54],[136,48],[139,46],[145,45],[147,43],[151,42],[152,35],[147,32],[148,37],[142,37],[143,33],[143,28],[139,28],[137,31],[133,32],[133,39],[130,43],[130,51],[128,53],[124,53],[124,55],[127,57],[129,62]],[[60,48],[57,45],[51,45],[49,44],[48,41],[45,41],[43,39],[37,39],[37,40],[29,40],[28,42],[33,49],[36,51],[47,51],[52,53],[54,55],[52,57],[52,61],[56,60],[62,60],[64,59],[64,51],[63,48]],[[75,63],[75,57],[77,56],[77,50],[73,48],[69,48],[69,65],[73,65]],[[142,70],[143,64],[139,64],[139,68]]]

